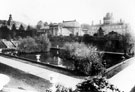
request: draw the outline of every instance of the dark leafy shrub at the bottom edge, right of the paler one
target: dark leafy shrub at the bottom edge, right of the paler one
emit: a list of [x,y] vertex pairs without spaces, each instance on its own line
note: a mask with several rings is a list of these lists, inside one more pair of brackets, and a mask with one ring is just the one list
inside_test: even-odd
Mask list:
[[104,77],[94,77],[79,83],[76,92],[122,92]]

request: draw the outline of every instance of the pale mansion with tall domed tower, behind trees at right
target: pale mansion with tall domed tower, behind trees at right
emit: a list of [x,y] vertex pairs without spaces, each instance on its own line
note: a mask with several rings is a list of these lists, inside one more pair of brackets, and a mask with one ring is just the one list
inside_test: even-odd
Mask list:
[[96,25],[92,23],[90,25],[90,29],[85,30],[85,33],[93,36],[100,28],[102,28],[104,35],[112,31],[119,34],[125,34],[128,31],[128,27],[128,24],[124,23],[122,20],[119,22],[113,22],[113,15],[111,13],[107,13],[103,18],[103,23],[101,23],[101,21]]

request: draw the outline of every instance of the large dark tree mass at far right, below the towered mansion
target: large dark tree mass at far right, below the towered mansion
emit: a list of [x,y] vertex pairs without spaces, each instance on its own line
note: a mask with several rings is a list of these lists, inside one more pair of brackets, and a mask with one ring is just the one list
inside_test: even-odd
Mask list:
[[134,51],[134,42],[130,33],[121,35],[112,31],[105,35],[105,38],[108,39],[105,45],[106,51],[122,52],[127,54],[131,54]]

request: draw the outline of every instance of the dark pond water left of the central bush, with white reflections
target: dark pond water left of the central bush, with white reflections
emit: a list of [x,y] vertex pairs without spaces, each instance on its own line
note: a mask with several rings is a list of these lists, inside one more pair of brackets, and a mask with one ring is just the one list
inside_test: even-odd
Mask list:
[[21,54],[19,57],[34,60],[35,62],[41,62],[44,64],[50,64],[53,66],[74,70],[73,61],[60,58],[59,51],[56,50],[51,50],[49,53]]

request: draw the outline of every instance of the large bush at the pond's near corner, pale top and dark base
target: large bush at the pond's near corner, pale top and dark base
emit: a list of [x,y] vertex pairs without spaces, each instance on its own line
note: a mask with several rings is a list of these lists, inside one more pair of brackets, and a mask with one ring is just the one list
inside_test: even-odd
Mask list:
[[76,71],[86,75],[98,75],[105,70],[101,63],[102,57],[97,53],[96,47],[88,47],[84,43],[76,42],[66,43],[63,48],[67,54],[65,58],[70,57],[74,60]]

